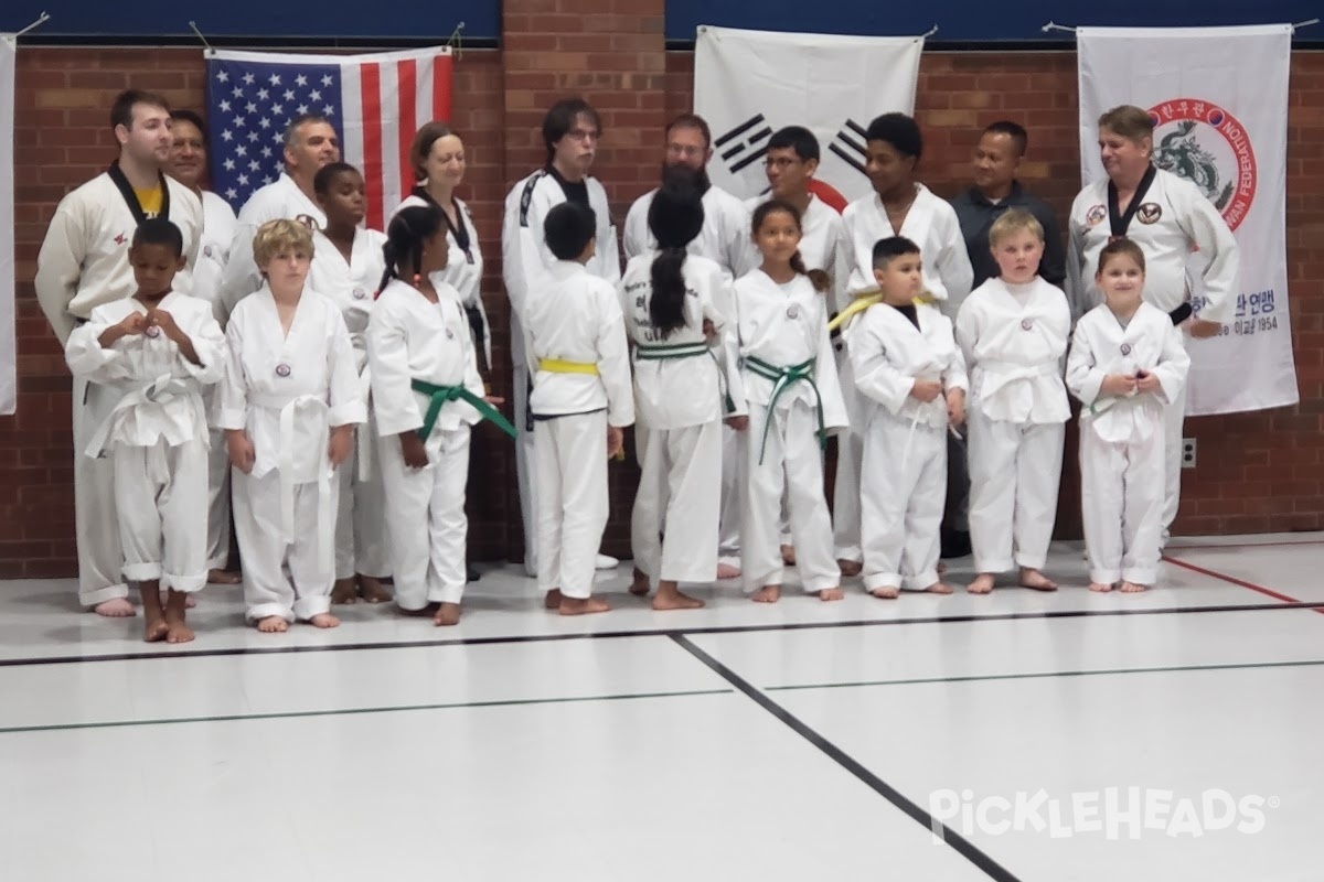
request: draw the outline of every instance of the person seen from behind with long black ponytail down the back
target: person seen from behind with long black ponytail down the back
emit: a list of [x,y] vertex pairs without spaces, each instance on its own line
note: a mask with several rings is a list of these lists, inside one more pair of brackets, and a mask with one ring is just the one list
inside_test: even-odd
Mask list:
[[681,594],[677,583],[718,577],[718,356],[724,354],[726,328],[719,304],[730,304],[731,286],[716,262],[686,253],[703,229],[698,189],[662,186],[649,206],[649,229],[655,250],[632,258],[621,279],[625,327],[634,342],[634,438],[642,468],[632,517],[630,591],[646,595],[657,581],[654,610],[692,610],[703,602]]

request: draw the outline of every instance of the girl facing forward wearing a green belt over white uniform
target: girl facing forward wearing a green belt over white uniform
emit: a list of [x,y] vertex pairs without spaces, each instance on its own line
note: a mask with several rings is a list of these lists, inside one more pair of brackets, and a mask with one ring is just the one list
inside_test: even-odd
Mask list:
[[846,406],[828,339],[828,279],[805,272],[793,205],[764,202],[752,227],[763,267],[736,280],[733,331],[727,333],[728,360],[741,365],[732,376],[736,415],[728,422],[747,432],[748,451],[740,570],[756,602],[781,598],[779,521],[786,489],[801,584],[824,600],[839,600],[822,444],[846,427]]

